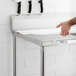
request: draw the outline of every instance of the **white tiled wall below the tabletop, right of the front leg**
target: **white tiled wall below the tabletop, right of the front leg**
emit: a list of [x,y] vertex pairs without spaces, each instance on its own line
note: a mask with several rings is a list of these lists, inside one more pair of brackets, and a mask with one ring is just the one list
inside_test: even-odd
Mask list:
[[[46,65],[46,72],[54,72],[54,76],[76,75],[76,44],[62,44],[46,47],[46,56],[54,56],[54,63]],[[49,58],[51,61],[51,58]],[[48,61],[48,59],[47,59]]]

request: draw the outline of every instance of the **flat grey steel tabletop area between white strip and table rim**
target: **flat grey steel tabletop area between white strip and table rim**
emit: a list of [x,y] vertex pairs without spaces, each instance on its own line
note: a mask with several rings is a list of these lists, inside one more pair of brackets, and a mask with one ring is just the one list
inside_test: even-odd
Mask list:
[[68,35],[68,36],[60,36],[58,34],[49,34],[49,35],[34,35],[34,34],[29,34],[25,35],[26,37],[36,39],[39,41],[43,42],[49,42],[49,41],[56,41],[56,40],[69,40],[69,39],[76,39],[76,36],[74,35]]

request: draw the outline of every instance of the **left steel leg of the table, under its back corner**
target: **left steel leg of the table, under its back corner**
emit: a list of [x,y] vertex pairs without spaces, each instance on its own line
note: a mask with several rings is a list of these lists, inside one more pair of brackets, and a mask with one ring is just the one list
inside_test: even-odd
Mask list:
[[13,76],[16,76],[16,37],[13,36]]

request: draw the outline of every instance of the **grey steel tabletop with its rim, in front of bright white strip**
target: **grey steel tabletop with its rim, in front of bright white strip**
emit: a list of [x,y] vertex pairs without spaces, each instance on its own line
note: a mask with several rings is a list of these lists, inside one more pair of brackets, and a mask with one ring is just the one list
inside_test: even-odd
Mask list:
[[48,35],[36,35],[36,34],[21,34],[20,32],[14,32],[14,35],[30,42],[33,42],[39,46],[52,46],[61,43],[66,43],[68,40],[76,40],[75,35],[68,35],[66,37],[59,34]]

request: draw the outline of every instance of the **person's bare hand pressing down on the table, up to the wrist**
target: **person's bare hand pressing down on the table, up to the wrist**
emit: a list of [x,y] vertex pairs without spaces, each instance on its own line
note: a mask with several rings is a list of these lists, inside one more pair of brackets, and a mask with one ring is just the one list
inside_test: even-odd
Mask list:
[[59,28],[60,26],[61,26],[61,35],[62,36],[69,35],[70,29],[71,29],[71,24],[69,23],[69,21],[61,22],[56,27]]

